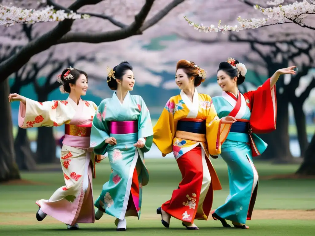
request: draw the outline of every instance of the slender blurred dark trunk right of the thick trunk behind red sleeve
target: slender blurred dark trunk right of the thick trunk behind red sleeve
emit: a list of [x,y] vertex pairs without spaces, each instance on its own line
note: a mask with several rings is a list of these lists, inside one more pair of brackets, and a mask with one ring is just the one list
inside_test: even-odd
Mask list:
[[294,110],[294,119],[297,129],[297,137],[301,149],[301,157],[305,157],[305,152],[308,146],[307,132],[306,132],[306,118],[303,111],[303,103],[298,99],[291,101]]

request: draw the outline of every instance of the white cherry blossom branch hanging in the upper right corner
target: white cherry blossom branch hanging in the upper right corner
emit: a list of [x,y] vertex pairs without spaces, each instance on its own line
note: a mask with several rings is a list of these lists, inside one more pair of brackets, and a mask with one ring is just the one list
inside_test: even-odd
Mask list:
[[[265,15],[264,18],[251,18],[246,19],[240,15],[237,18],[238,25],[222,25],[221,20],[218,24],[211,24],[210,26],[204,26],[193,23],[186,16],[185,20],[190,26],[193,26],[195,30],[204,32],[224,32],[224,31],[241,31],[245,29],[257,29],[260,27],[266,27],[270,25],[282,25],[293,23],[304,28],[315,30],[315,25],[308,25],[305,22],[306,17],[315,14],[315,1],[314,0],[303,0],[303,1],[264,1],[265,5],[272,5],[273,7],[261,7],[258,4],[254,4],[247,0],[238,0],[248,6],[254,7],[255,10]],[[290,3],[293,2],[293,3]],[[309,19],[311,20],[311,19]],[[314,20],[314,18],[312,18]],[[312,22],[312,21],[310,21]]]

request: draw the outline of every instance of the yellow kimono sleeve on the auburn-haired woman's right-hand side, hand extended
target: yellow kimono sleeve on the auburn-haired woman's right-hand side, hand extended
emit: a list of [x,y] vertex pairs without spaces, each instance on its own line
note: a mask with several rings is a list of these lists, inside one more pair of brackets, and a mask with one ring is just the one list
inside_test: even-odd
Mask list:
[[210,100],[210,108],[206,117],[206,140],[209,154],[216,158],[221,154],[221,145],[225,141],[230,127],[225,127],[225,124],[222,124],[211,97],[208,96],[208,99]]

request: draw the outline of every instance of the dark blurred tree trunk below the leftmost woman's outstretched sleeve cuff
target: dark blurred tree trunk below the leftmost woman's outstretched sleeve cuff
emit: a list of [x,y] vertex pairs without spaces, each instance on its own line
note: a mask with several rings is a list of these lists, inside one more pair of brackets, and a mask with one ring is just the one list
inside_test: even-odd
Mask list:
[[31,150],[30,141],[27,138],[26,129],[19,127],[18,134],[14,141],[14,150],[16,163],[20,170],[35,170],[36,162],[34,160],[35,153]]

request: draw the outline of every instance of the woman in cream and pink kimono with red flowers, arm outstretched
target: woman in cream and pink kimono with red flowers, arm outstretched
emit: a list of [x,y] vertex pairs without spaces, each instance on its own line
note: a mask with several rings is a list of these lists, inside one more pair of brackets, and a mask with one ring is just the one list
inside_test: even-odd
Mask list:
[[66,185],[58,188],[48,200],[36,201],[39,206],[36,218],[42,221],[49,215],[66,223],[68,229],[78,229],[77,223],[95,221],[92,196],[95,155],[89,150],[89,143],[97,106],[81,99],[88,89],[88,76],[84,71],[69,67],[58,76],[58,81],[62,84],[60,91],[69,93],[67,100],[41,103],[13,93],[9,101],[20,101],[21,128],[65,124],[60,162]]

